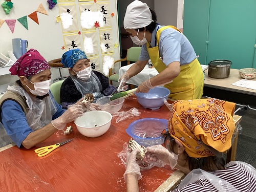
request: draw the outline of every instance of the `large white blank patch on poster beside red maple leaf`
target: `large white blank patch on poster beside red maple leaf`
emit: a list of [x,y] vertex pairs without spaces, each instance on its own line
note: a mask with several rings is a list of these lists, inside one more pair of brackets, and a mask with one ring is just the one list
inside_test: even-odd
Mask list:
[[100,27],[104,26],[103,13],[100,11],[83,11],[81,13],[81,26],[85,29],[92,29],[96,22]]

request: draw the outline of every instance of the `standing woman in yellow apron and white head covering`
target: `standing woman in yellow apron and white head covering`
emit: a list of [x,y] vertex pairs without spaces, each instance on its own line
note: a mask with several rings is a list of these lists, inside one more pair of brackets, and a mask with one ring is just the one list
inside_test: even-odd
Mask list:
[[[156,21],[156,13],[145,3],[134,1],[127,6],[124,29],[142,49],[139,60],[121,79],[127,81],[137,75],[151,59],[159,74],[142,82],[137,93],[147,93],[154,87],[164,85],[170,90],[169,98],[200,99],[203,94],[204,75],[194,48],[176,27],[161,26]],[[127,89],[125,82],[121,83]]]

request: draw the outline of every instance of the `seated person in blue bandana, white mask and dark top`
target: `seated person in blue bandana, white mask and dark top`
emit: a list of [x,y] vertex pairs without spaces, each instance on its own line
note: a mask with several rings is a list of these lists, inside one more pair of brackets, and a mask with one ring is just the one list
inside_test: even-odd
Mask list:
[[[60,102],[63,108],[74,104],[87,93],[92,93],[94,103],[100,97],[111,95],[116,88],[109,83],[109,78],[98,71],[92,71],[86,54],[79,50],[69,50],[62,55],[62,64],[69,68],[70,77],[63,81],[60,88]],[[93,107],[96,107],[92,103]]]

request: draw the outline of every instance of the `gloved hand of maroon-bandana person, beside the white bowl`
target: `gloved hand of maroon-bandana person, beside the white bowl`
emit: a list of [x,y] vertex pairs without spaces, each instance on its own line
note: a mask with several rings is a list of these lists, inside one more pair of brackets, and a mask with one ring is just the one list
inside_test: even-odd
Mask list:
[[75,104],[69,107],[61,116],[52,120],[52,125],[58,130],[63,130],[67,123],[75,120],[77,117],[80,117],[82,115],[82,106],[79,104]]

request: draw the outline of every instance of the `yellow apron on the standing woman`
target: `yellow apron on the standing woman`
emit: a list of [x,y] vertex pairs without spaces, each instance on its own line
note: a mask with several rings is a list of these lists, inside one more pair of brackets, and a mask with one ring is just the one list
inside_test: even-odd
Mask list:
[[[147,42],[147,52],[158,73],[166,69],[165,64],[160,59],[158,45],[161,32],[167,28],[179,31],[174,26],[162,27],[157,31],[157,46],[151,47],[150,43]],[[200,99],[203,95],[204,75],[198,59],[196,58],[187,65],[180,66],[180,74],[173,79],[173,82],[165,84],[164,87],[170,90],[169,98],[175,100]]]

